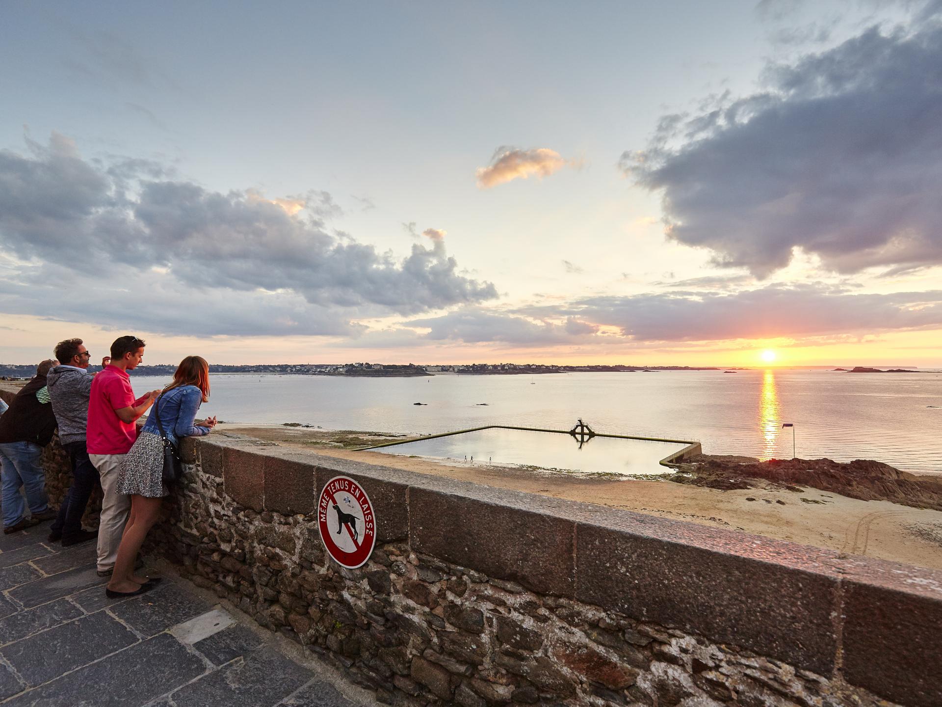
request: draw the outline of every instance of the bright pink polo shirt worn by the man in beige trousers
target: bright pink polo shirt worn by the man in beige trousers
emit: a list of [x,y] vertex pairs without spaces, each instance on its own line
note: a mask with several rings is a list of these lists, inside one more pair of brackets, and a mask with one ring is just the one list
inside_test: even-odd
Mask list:
[[138,404],[126,370],[106,366],[95,376],[89,396],[86,442],[89,454],[126,454],[130,451],[138,438],[138,426],[134,422],[122,422],[115,410]]

